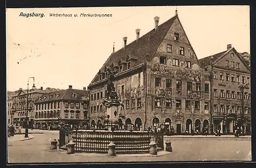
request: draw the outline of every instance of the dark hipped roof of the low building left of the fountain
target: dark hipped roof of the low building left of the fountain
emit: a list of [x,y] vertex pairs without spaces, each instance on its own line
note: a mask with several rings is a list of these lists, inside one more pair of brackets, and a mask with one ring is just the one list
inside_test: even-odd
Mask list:
[[[73,93],[76,93],[76,97],[73,97]],[[57,95],[57,96],[56,96]],[[84,90],[78,89],[66,89],[60,90],[55,92],[50,92],[42,95],[40,100],[36,100],[35,102],[46,102],[46,101],[53,101],[53,100],[81,100],[82,97],[88,97],[89,92]],[[44,97],[46,97],[44,99]]]

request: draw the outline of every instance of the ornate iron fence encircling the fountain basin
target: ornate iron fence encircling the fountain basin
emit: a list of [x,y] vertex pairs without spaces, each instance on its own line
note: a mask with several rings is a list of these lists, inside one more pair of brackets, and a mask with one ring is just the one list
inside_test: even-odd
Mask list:
[[110,142],[116,144],[117,154],[148,153],[151,141],[163,149],[162,133],[144,131],[60,130],[59,148],[67,150],[70,141],[76,152],[86,153],[108,153]]

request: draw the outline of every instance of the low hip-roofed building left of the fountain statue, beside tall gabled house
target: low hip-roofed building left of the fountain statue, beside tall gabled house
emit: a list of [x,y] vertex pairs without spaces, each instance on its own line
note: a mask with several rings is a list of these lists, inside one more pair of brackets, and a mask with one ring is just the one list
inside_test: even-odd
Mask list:
[[37,129],[60,125],[84,126],[89,118],[89,93],[83,90],[69,89],[42,94],[35,101],[34,124]]

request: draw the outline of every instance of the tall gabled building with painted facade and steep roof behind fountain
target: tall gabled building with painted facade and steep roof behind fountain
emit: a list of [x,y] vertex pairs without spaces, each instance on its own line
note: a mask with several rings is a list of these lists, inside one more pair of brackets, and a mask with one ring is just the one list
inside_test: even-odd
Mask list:
[[205,81],[193,47],[181,25],[178,13],[136,40],[114,51],[90,85],[90,124],[104,123],[106,109],[101,104],[106,95],[110,68],[115,73],[115,88],[124,106],[118,121],[147,127],[173,126],[177,133],[210,127],[210,82]]

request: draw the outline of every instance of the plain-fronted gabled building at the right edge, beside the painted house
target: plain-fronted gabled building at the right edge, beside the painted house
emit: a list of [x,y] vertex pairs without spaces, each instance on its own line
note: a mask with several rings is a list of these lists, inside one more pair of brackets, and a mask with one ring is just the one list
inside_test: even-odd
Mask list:
[[212,131],[233,133],[242,127],[251,133],[251,86],[249,64],[231,44],[227,50],[200,59],[210,80]]

